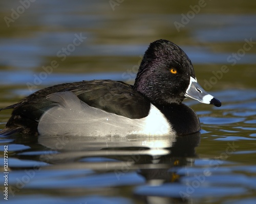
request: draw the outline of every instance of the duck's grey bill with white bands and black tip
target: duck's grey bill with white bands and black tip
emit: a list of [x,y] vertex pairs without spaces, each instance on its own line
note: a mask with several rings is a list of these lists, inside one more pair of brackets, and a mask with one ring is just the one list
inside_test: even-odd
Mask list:
[[216,107],[221,106],[221,101],[219,101],[214,96],[208,94],[198,83],[197,80],[193,77],[190,77],[190,83],[188,85],[188,88],[185,92],[185,96],[188,98],[193,98],[195,100],[198,100],[201,103],[204,104],[212,104]]

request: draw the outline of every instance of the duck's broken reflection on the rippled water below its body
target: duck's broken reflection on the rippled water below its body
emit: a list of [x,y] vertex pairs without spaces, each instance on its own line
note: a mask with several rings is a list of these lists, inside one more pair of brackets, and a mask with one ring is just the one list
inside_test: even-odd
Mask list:
[[[182,167],[194,165],[196,150],[201,134],[188,136],[140,137],[38,137],[38,144],[56,150],[58,154],[40,156],[40,161],[54,164],[50,169],[90,169],[96,174],[112,173],[117,182],[127,173],[136,172],[145,179],[144,186],[179,184]],[[121,182],[121,180],[120,180]],[[152,199],[152,192],[141,193],[135,188],[134,194],[140,199]],[[155,195],[168,201],[171,197]],[[182,199],[179,194],[175,199]]]

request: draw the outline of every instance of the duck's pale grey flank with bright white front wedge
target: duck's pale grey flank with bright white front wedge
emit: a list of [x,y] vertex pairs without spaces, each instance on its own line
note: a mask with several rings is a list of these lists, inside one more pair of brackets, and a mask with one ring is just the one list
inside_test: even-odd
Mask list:
[[147,117],[130,119],[91,107],[69,91],[50,94],[48,98],[58,105],[39,119],[40,135],[125,137],[131,134],[163,136],[175,133],[153,105]]

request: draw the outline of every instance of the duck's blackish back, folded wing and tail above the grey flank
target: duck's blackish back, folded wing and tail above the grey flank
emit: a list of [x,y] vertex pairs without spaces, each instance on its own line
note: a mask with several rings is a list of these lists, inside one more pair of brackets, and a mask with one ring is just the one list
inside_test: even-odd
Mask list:
[[146,117],[150,101],[136,92],[131,85],[111,80],[93,80],[55,85],[41,89],[4,109],[13,109],[4,130],[0,134],[15,132],[37,134],[38,120],[57,104],[47,99],[54,92],[72,91],[89,106],[128,118]]

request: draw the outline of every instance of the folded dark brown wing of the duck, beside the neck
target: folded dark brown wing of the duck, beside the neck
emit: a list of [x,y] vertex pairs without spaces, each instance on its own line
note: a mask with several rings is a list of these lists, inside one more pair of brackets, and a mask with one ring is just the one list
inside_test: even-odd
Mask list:
[[135,91],[131,85],[116,81],[89,81],[86,86],[79,85],[65,89],[72,91],[89,106],[115,113],[128,118],[146,117],[150,101]]

